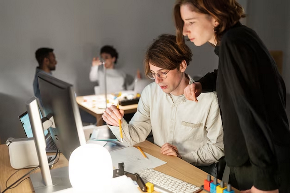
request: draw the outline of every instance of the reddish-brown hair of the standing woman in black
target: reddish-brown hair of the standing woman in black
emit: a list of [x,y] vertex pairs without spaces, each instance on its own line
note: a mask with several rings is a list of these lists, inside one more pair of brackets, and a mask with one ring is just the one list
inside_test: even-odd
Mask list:
[[174,20],[176,27],[176,41],[179,45],[184,44],[184,22],[180,15],[180,6],[192,5],[192,11],[211,15],[219,25],[214,28],[217,44],[227,29],[235,25],[241,18],[246,17],[244,9],[236,0],[177,0],[174,6]]

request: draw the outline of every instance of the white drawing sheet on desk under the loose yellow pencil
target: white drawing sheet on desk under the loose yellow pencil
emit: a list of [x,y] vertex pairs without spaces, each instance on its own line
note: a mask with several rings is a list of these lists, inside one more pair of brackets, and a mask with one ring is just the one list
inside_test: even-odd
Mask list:
[[[144,152],[145,153],[145,152]],[[114,169],[118,168],[118,164],[124,162],[125,171],[136,173],[147,168],[155,168],[166,164],[165,161],[145,153],[148,157],[146,160],[142,153],[135,147],[126,147],[120,150],[110,152]]]

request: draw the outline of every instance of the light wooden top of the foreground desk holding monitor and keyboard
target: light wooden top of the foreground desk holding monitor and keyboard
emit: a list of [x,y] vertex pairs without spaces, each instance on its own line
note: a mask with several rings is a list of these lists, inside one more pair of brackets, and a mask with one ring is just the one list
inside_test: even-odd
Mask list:
[[[90,133],[92,132],[91,129],[84,130],[85,138],[88,139]],[[179,178],[180,180],[184,180],[194,185],[202,185],[204,180],[207,177],[207,173],[198,168],[194,167],[193,165],[181,160],[177,157],[167,156],[160,153],[160,147],[154,145],[149,141],[144,141],[138,144],[142,150],[150,155],[157,157],[160,160],[166,161],[167,164],[158,166],[154,169],[171,175],[173,177]],[[60,154],[60,160],[57,164],[54,165],[54,168],[60,168],[68,166],[68,161],[65,157]],[[25,169],[17,172],[13,177],[9,180],[8,185],[19,179],[22,175],[26,174],[31,169]],[[10,166],[9,154],[8,154],[8,147],[7,145],[0,145],[0,192],[2,192],[6,187],[5,183],[6,180],[12,175],[16,170]],[[36,170],[35,172],[40,172],[40,170]],[[22,193],[31,193],[34,192],[33,186],[31,181],[25,180],[16,188],[10,189],[6,191],[7,193],[12,192],[22,192]],[[155,192],[155,191],[154,191]],[[203,191],[205,192],[205,191]],[[235,192],[238,193],[239,191],[235,189]]]

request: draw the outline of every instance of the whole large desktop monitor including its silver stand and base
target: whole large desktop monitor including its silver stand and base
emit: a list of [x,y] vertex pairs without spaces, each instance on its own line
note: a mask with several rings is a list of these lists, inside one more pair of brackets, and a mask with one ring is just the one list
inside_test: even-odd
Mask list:
[[67,167],[49,170],[43,130],[49,128],[56,146],[67,160],[70,159],[71,153],[80,145],[86,144],[86,141],[73,86],[44,73],[38,74],[38,81],[44,118],[40,118],[35,97],[26,102],[26,107],[41,174],[31,174],[30,180],[36,193],[48,193],[69,188],[71,185]]

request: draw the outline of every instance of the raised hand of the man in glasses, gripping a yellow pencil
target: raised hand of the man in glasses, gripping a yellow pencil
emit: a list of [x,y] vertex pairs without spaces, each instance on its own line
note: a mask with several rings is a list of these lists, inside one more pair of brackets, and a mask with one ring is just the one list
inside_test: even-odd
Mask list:
[[107,108],[103,113],[103,120],[110,125],[119,126],[119,120],[124,116],[124,111],[117,109],[115,105],[111,105],[110,108]]

